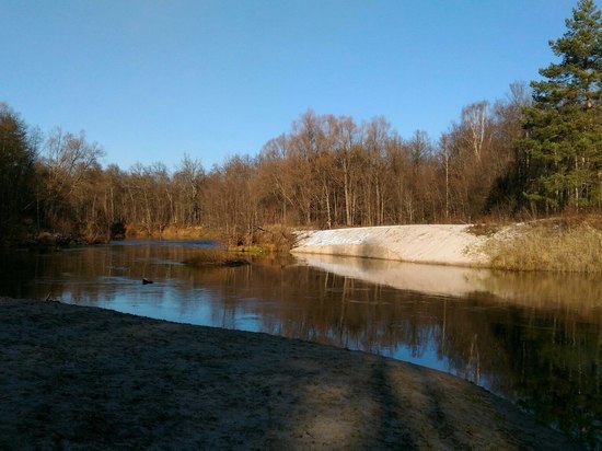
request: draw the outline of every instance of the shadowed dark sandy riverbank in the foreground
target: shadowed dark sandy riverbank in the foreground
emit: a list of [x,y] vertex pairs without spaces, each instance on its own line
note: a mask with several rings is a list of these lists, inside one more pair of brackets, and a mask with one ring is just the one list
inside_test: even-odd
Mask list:
[[571,449],[466,381],[358,351],[0,299],[0,448]]

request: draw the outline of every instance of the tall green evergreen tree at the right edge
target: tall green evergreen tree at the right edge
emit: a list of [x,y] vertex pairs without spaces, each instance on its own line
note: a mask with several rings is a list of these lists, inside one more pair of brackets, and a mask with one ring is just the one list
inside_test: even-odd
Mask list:
[[546,210],[602,207],[602,22],[593,0],[580,0],[567,32],[549,46],[560,58],[531,83],[525,109],[531,186],[528,198]]

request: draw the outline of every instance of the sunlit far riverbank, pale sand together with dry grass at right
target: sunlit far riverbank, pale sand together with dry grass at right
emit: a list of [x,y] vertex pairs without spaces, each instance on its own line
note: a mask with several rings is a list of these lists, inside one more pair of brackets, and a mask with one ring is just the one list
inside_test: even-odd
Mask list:
[[298,232],[294,254],[509,270],[602,273],[602,217],[510,226],[384,226]]

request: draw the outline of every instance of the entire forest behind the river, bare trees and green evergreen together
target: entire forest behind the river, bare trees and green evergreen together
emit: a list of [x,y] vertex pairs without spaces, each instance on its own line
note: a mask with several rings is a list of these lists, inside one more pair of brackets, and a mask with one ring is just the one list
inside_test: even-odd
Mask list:
[[[103,167],[83,131],[46,134],[0,103],[0,233],[103,242],[196,228],[251,244],[273,224],[335,228],[473,223],[602,210],[602,27],[580,0],[551,42],[541,81],[459,112],[440,137],[401,137],[385,117],[356,122],[309,109],[255,155],[207,170]],[[167,151],[169,149],[166,149]],[[200,232],[199,232],[200,233]]]

